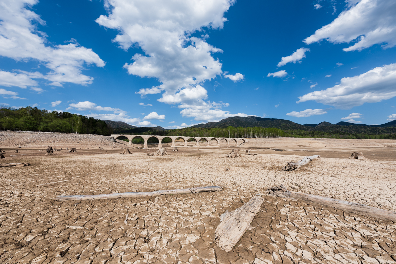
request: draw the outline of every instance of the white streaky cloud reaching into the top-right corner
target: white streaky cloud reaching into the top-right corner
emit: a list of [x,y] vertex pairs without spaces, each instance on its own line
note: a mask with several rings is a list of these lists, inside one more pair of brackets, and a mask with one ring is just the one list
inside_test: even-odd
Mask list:
[[383,48],[396,45],[396,1],[346,0],[347,9],[330,24],[304,40],[311,44],[320,40],[332,43],[354,43],[344,51],[360,51],[374,44]]

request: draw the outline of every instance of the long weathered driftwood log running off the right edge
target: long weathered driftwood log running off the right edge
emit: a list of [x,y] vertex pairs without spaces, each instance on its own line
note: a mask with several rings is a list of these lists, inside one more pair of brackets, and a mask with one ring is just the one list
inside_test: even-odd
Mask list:
[[283,185],[274,186],[267,189],[271,196],[290,197],[294,199],[304,200],[306,202],[314,202],[323,206],[331,206],[333,208],[358,213],[360,215],[367,215],[377,217],[380,219],[388,219],[396,222],[396,212],[379,209],[377,207],[366,206],[364,204],[357,204],[343,200],[337,200],[329,197],[306,194],[302,192],[289,191]]

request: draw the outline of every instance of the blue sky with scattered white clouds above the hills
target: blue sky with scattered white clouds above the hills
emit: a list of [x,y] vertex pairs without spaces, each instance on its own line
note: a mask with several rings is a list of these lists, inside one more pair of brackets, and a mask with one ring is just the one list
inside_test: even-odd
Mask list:
[[2,0],[0,104],[180,128],[396,119],[394,0]]

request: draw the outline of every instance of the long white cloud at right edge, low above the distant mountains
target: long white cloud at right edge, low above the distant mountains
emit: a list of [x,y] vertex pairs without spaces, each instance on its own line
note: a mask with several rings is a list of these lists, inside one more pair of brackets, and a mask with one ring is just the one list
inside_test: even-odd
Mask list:
[[375,103],[396,96],[396,63],[374,68],[354,77],[341,79],[340,84],[299,97],[300,102],[313,100],[341,109],[364,103]]

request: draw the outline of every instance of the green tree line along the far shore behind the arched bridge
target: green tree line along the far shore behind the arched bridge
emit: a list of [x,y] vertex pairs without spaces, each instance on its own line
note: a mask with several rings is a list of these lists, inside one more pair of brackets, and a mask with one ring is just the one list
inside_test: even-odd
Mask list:
[[[307,130],[282,130],[273,127],[234,127],[202,128],[187,127],[180,129],[164,129],[160,127],[112,128],[103,120],[69,112],[57,112],[37,107],[0,106],[0,130],[41,131],[78,134],[139,134],[152,136],[189,136],[215,138],[344,138],[344,139],[396,139],[396,127],[366,127],[366,126],[321,126]],[[126,140],[126,139],[125,139]],[[150,141],[156,141],[150,138]],[[169,139],[170,140],[170,139]],[[143,139],[136,138],[133,143],[141,143]],[[167,139],[162,141],[167,143]],[[151,143],[151,142],[149,142]],[[152,142],[156,143],[156,142]]]

